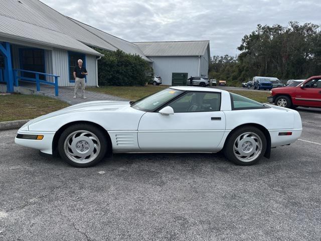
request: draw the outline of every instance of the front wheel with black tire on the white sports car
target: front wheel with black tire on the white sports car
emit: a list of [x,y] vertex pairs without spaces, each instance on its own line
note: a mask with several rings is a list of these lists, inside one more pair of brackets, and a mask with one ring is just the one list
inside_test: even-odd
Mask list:
[[[77,133],[77,134],[75,134]],[[88,133],[80,137],[81,133]],[[79,136],[77,136],[79,134]],[[75,139],[72,139],[71,136],[75,135]],[[89,141],[89,137],[91,136],[91,141]],[[72,148],[66,148],[65,151],[65,145],[68,145],[67,139],[69,140],[70,146]],[[78,141],[76,139],[79,139]],[[83,140],[82,140],[83,139]],[[76,141],[72,141],[76,140]],[[87,143],[88,140],[88,143]],[[98,140],[98,141],[97,141]],[[80,147],[79,143],[82,147]],[[87,145],[87,146],[84,146]],[[96,146],[95,146],[96,145]],[[87,148],[88,147],[88,148]],[[74,167],[91,167],[100,162],[106,155],[107,148],[109,147],[107,137],[104,135],[104,132],[102,132],[99,128],[89,125],[89,124],[76,124],[73,126],[68,127],[60,136],[58,141],[58,151],[62,159],[68,163],[71,166]],[[82,148],[82,149],[81,149]],[[86,153],[85,148],[88,149],[88,153]],[[79,150],[81,149],[81,150]],[[83,151],[84,150],[84,151]],[[92,150],[92,152],[91,152]],[[81,152],[83,153],[81,153]],[[96,151],[96,152],[95,152]],[[66,153],[67,152],[67,153]],[[88,158],[85,157],[84,160],[78,161],[73,160],[71,158],[77,159],[77,156],[71,157],[70,153],[72,154],[80,154],[82,156],[85,156],[86,154],[91,154]],[[68,157],[68,155],[70,157]],[[78,156],[80,157],[80,156]],[[92,160],[91,160],[92,159]]]

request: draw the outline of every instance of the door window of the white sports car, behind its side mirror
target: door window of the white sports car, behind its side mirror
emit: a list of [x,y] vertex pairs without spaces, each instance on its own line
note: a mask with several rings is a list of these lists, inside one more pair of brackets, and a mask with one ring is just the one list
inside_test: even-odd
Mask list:
[[169,104],[176,113],[219,111],[221,93],[188,92]]

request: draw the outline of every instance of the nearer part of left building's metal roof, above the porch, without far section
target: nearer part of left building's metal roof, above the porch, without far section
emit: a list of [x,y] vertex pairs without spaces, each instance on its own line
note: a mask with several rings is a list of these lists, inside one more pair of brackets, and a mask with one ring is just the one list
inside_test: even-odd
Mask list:
[[[84,46],[85,44],[91,46],[101,45],[106,49],[113,48],[107,42],[97,37],[95,39],[93,34],[84,31],[82,27],[38,0],[21,0],[20,2],[14,0],[2,1],[0,16],[6,21],[2,22],[2,31],[0,31],[0,35],[8,36],[8,34],[11,34],[15,37],[21,36],[24,40],[29,40],[30,34],[31,41],[37,41],[62,49],[73,49],[75,51],[85,50],[85,53],[94,55],[100,54],[94,50],[90,50],[88,46]],[[19,26],[24,26],[25,29]],[[5,29],[7,31],[10,29],[10,33],[6,32]],[[75,38],[76,31],[82,31],[80,38]],[[46,38],[46,34],[49,35],[48,38]],[[63,37],[66,38],[66,40],[60,40],[57,44],[55,42],[56,40],[51,41],[51,36],[59,36],[58,38]],[[74,40],[72,41],[71,39]],[[65,42],[68,42],[69,44]]]

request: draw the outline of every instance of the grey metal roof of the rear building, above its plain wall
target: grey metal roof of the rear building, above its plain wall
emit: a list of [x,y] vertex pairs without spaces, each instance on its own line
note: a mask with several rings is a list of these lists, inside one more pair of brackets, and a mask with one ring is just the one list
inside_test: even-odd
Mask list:
[[199,56],[204,55],[210,41],[134,42],[145,56]]

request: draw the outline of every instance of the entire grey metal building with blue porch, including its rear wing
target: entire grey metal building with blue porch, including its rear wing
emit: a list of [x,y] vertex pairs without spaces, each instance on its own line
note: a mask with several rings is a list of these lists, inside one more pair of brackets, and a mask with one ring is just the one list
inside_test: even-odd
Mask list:
[[[81,33],[81,34],[79,34]],[[154,67],[164,84],[173,73],[207,75],[209,41],[130,43],[68,18],[38,0],[3,0],[0,8],[0,84],[13,92],[21,81],[73,86],[73,68],[83,59],[87,86],[98,85],[93,49],[137,54]],[[6,85],[4,85],[6,84]],[[0,89],[0,90],[1,90]]]

